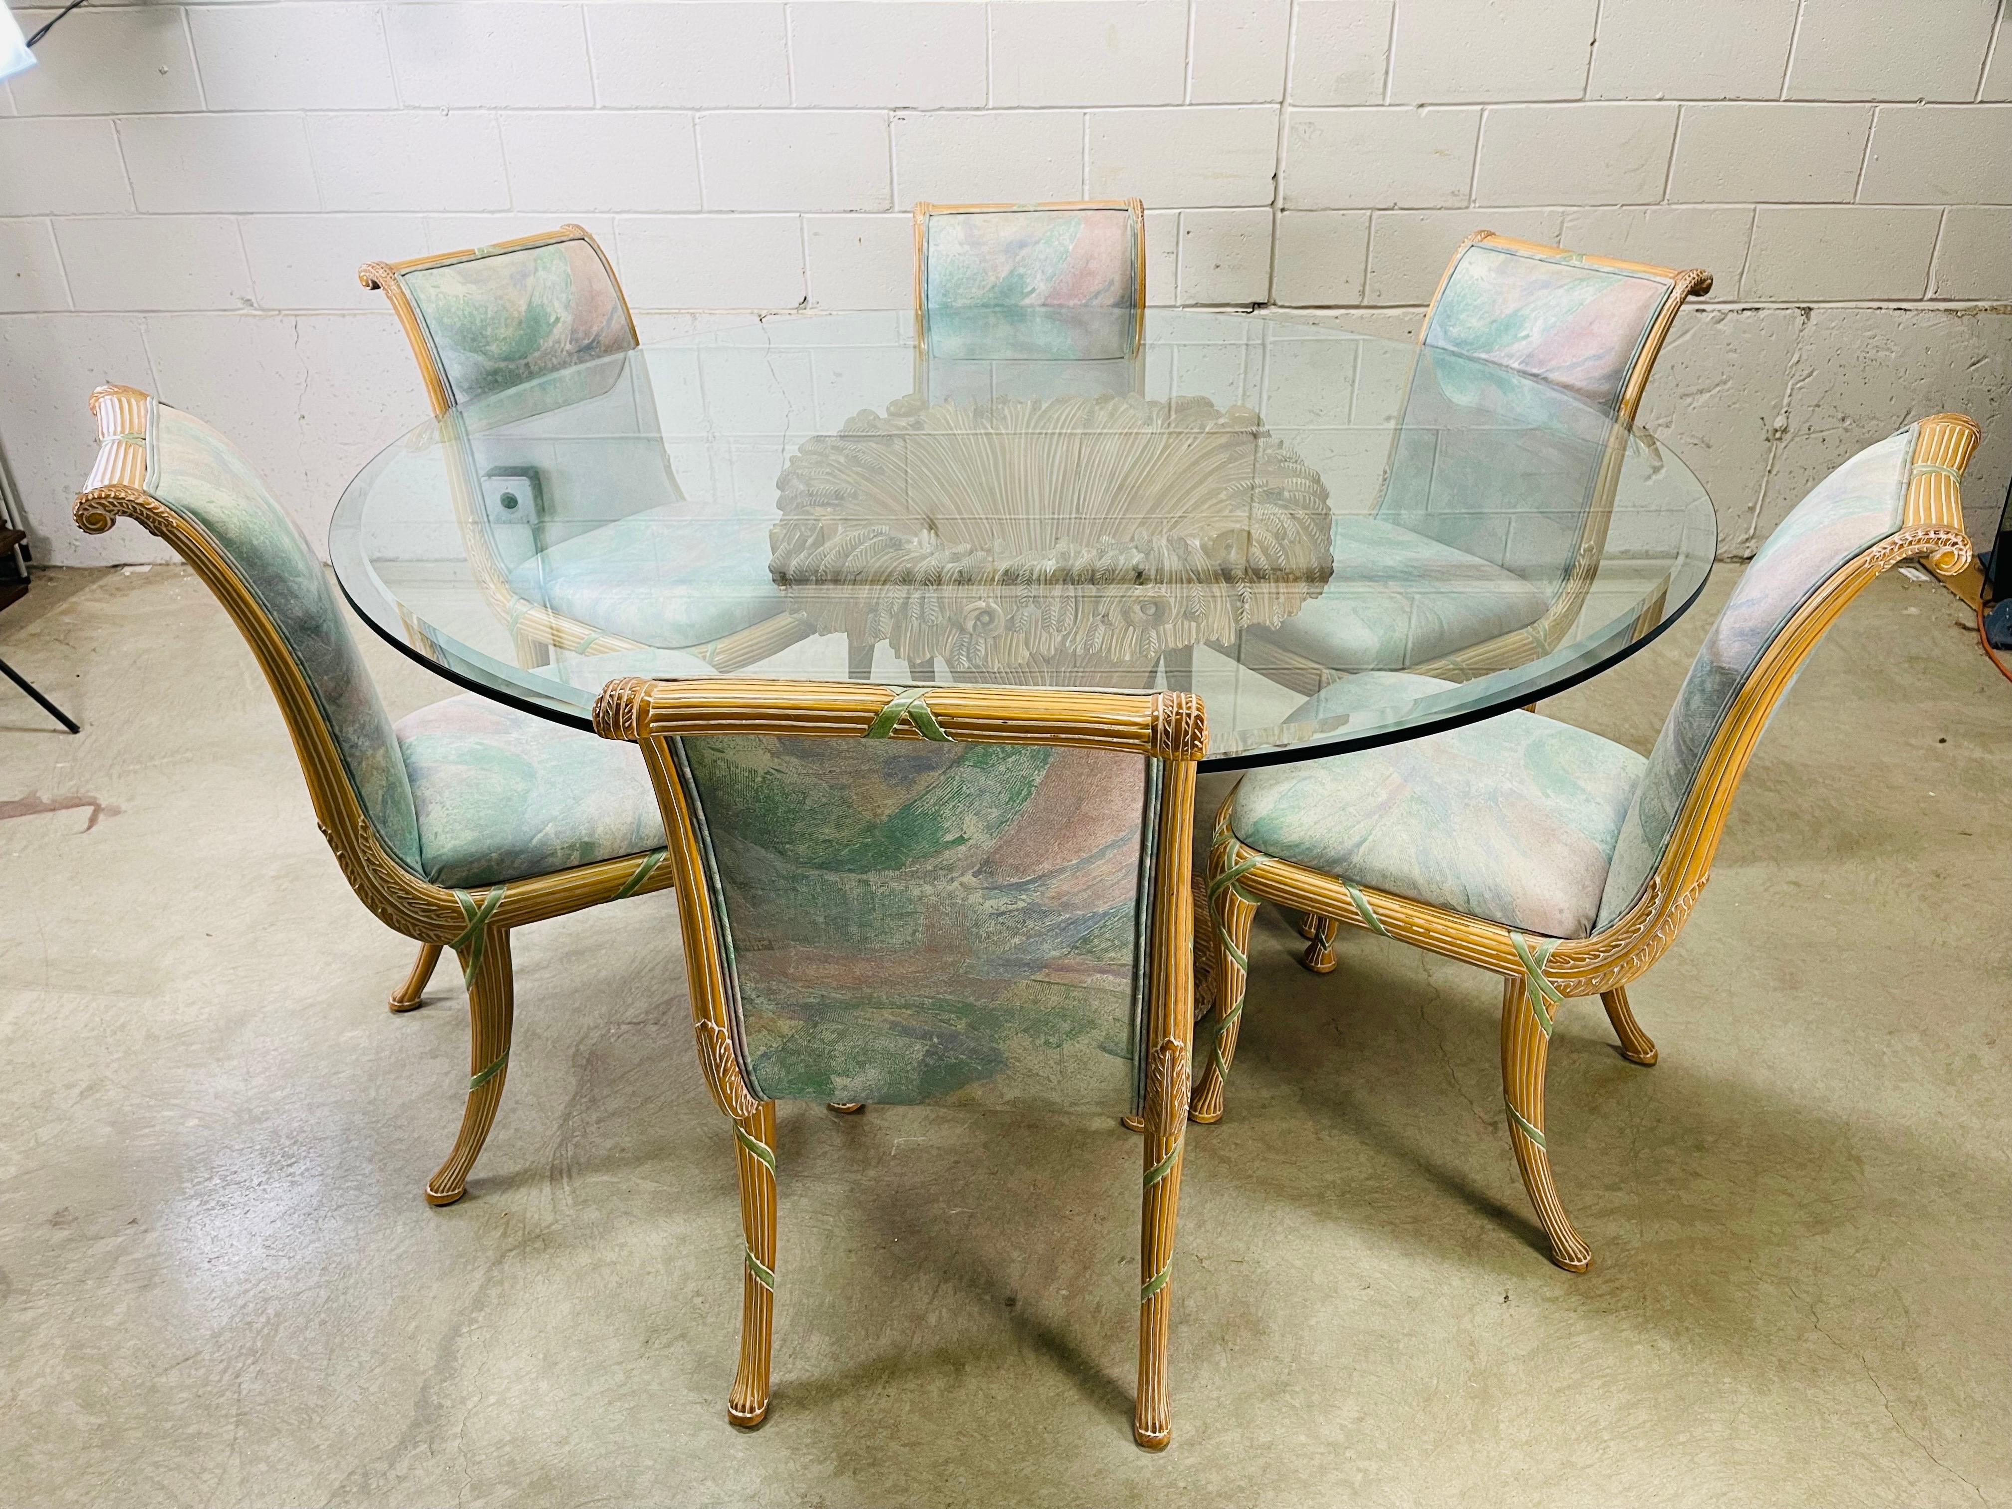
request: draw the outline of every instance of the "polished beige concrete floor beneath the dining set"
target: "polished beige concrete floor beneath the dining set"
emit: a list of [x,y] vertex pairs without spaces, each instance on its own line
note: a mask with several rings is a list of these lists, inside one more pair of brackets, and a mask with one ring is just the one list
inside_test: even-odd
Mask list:
[[[1726,585],[1547,710],[1646,748]],[[0,688],[0,1503],[2008,1503],[2012,686],[1960,612],[1889,575],[1811,662],[1634,990],[1660,1066],[1563,1016],[1591,1274],[1537,1245],[1495,984],[1360,934],[1316,980],[1262,917],[1149,1457],[1103,1119],[785,1107],[775,1406],[726,1424],[668,893],[519,934],[503,1113],[429,1209],[459,980],[384,1012],[410,950],[199,583],[50,573],[0,624],[85,722]]]

